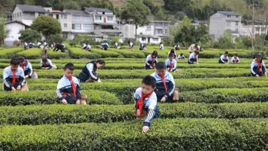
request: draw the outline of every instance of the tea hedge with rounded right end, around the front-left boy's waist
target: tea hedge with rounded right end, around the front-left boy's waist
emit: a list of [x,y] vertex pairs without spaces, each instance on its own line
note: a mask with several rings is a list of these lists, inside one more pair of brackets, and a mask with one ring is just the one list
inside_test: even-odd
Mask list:
[[[114,94],[106,91],[81,91],[87,95],[87,104],[122,104]],[[0,106],[61,103],[56,90],[50,91],[0,91]]]

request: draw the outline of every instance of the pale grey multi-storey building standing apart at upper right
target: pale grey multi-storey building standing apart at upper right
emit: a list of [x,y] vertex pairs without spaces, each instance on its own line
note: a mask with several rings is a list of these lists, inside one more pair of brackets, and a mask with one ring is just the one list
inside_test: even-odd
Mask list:
[[209,35],[216,39],[222,37],[227,29],[231,30],[233,38],[238,37],[240,27],[241,15],[234,12],[218,11],[209,19]]

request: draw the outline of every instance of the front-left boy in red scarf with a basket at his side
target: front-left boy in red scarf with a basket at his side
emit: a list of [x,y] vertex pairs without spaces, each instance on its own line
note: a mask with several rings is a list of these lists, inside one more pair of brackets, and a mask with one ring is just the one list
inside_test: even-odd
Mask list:
[[64,75],[59,80],[56,94],[63,104],[80,104],[81,92],[78,79],[73,76],[75,66],[71,63],[64,67]]

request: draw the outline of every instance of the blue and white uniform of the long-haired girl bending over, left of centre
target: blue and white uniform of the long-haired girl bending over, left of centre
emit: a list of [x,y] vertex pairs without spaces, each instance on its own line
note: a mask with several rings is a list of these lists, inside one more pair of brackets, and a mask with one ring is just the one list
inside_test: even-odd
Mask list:
[[96,61],[91,61],[87,63],[86,66],[82,69],[82,72],[79,73],[79,76],[78,76],[79,82],[84,83],[86,82],[86,80],[89,79],[89,77],[92,80],[98,81],[99,78],[96,77],[97,71],[98,71],[98,68],[96,65]]

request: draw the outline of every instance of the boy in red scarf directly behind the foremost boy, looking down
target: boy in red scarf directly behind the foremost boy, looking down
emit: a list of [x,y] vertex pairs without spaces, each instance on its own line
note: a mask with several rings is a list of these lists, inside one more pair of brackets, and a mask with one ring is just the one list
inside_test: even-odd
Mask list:
[[157,102],[173,102],[173,92],[175,90],[175,82],[173,76],[167,72],[166,64],[159,62],[156,64],[156,72],[151,76],[156,79],[155,93]]

